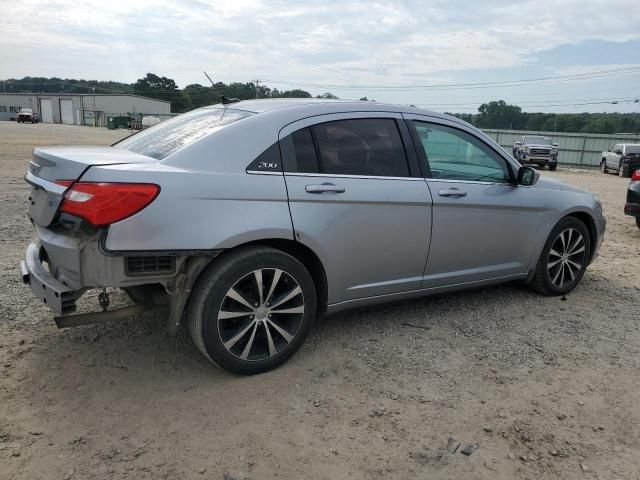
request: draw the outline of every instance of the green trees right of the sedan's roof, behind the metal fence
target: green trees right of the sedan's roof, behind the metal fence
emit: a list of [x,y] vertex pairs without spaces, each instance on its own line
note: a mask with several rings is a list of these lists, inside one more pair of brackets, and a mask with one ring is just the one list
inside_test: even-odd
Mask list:
[[478,113],[453,113],[478,128],[571,133],[640,133],[640,113],[533,113],[504,100],[483,103]]

